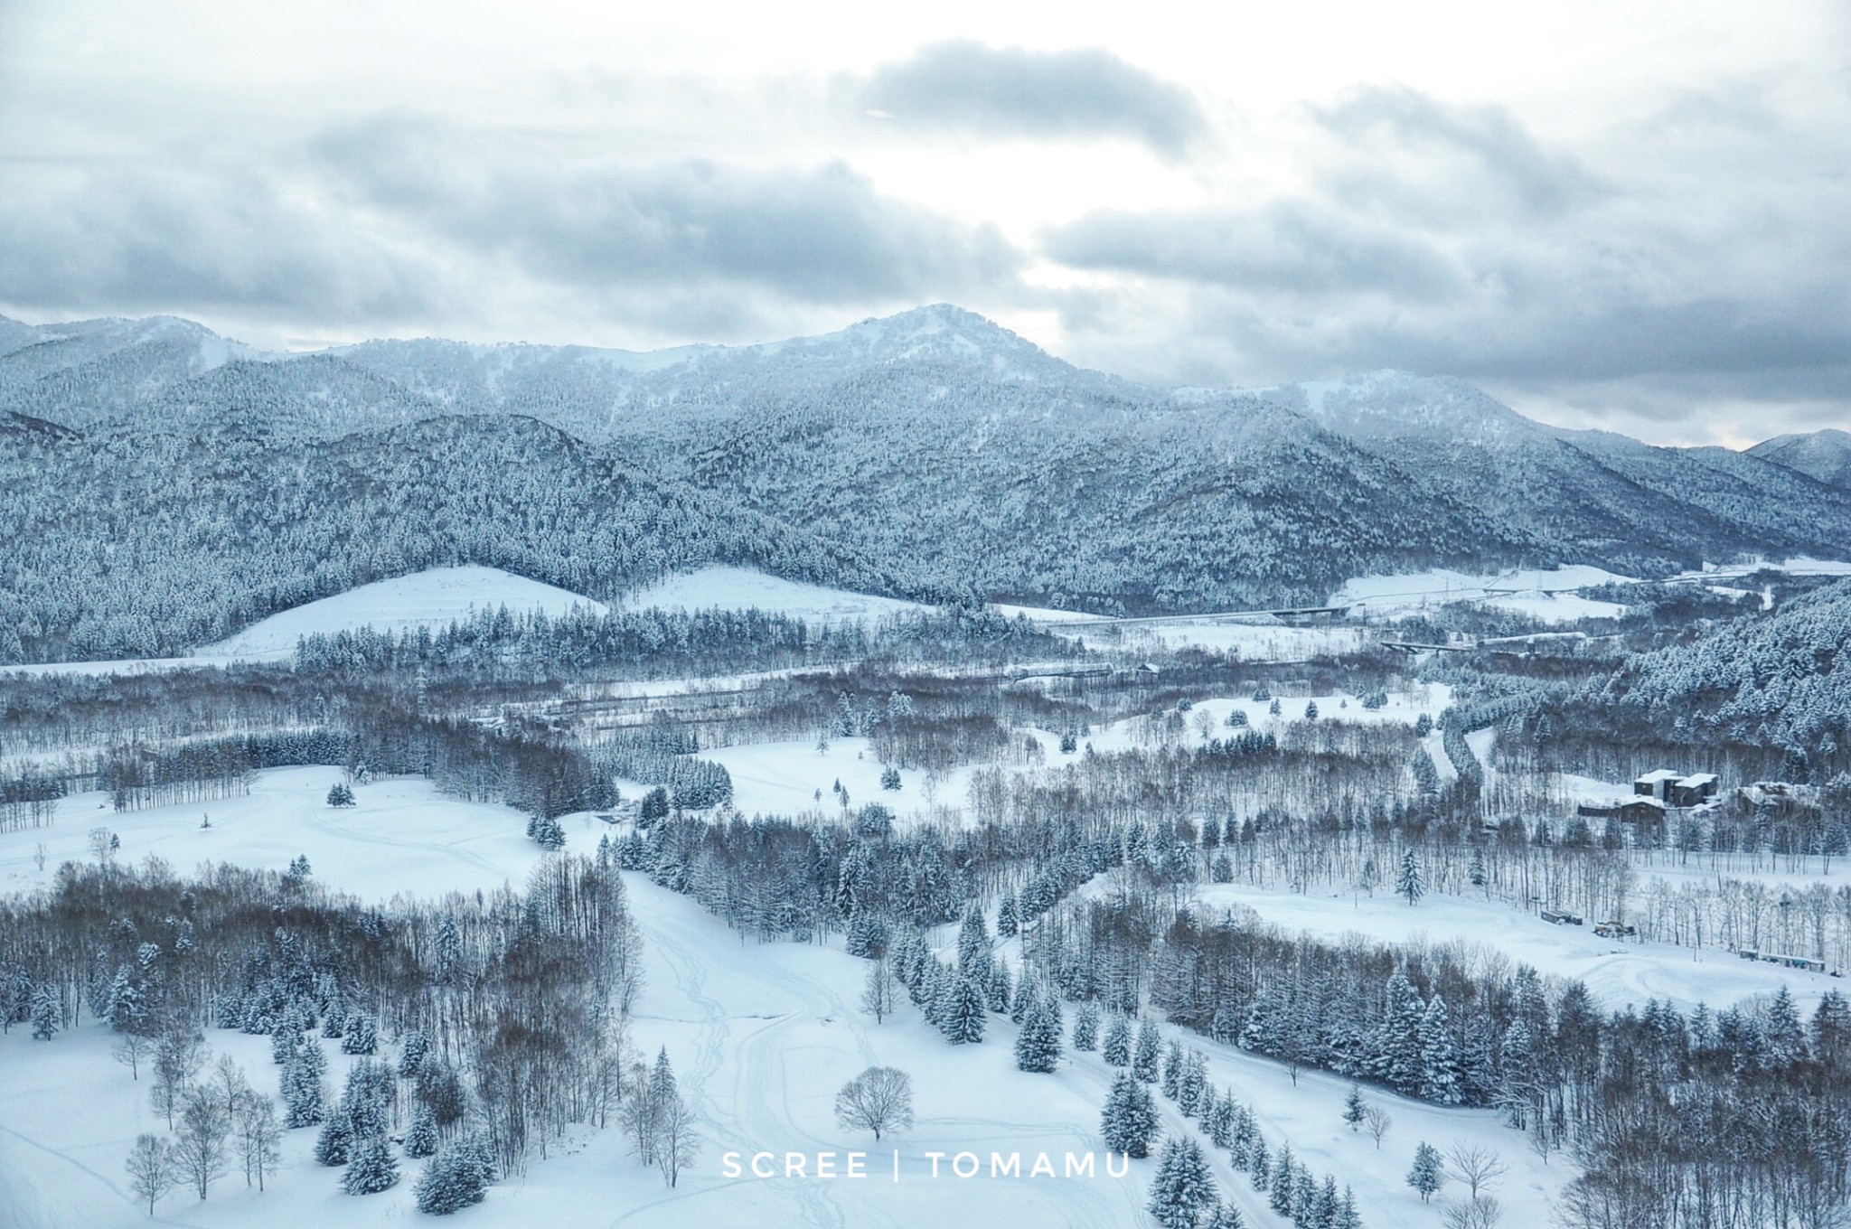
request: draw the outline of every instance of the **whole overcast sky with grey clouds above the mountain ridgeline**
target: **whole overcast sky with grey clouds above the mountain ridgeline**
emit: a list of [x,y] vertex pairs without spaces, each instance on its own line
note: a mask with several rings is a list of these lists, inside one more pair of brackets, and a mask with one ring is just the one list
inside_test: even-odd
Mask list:
[[650,348],[955,302],[1155,383],[1851,426],[1851,6],[1514,11],[0,0],[0,313]]

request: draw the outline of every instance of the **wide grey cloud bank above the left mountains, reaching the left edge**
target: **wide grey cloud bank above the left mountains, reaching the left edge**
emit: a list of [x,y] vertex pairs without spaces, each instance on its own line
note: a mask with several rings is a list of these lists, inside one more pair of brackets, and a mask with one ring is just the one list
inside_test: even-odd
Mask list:
[[1024,259],[840,163],[566,159],[407,115],[37,176],[0,200],[0,237],[20,311],[324,335],[759,339],[820,309],[1007,296]]

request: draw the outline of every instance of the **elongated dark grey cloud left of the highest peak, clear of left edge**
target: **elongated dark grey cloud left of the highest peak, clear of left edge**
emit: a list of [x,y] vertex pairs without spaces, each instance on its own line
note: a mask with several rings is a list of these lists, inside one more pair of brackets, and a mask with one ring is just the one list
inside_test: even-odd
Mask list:
[[909,300],[987,287],[1018,263],[996,230],[883,196],[840,163],[566,163],[416,118],[328,133],[317,154],[355,204],[590,292],[720,283],[811,304]]

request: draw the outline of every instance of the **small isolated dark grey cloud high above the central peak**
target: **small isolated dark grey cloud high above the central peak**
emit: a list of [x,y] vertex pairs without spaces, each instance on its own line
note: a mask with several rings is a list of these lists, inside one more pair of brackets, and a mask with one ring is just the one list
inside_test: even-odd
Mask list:
[[950,41],[876,68],[863,104],[920,128],[1007,137],[1131,137],[1177,155],[1205,122],[1196,98],[1105,50],[1029,52]]

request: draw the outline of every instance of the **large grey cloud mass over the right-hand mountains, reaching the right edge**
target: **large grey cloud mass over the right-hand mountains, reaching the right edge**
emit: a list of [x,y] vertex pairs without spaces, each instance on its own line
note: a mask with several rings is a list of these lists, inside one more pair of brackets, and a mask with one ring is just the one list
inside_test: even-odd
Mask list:
[[1068,305],[1074,357],[1146,378],[1399,366],[1658,435],[1703,403],[1821,426],[1851,387],[1842,154],[1753,91],[1740,124],[1733,104],[1570,155],[1503,111],[1349,91],[1305,111],[1294,194],[1094,211],[1042,252],[1096,274]]

